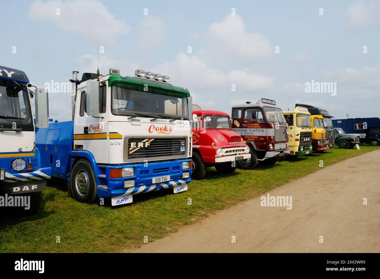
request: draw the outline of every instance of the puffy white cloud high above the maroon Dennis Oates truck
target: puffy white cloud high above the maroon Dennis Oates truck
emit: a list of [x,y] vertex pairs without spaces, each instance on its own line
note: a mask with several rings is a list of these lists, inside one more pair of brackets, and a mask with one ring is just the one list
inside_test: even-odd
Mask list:
[[260,33],[247,32],[242,17],[238,15],[228,15],[212,23],[204,33],[203,40],[209,46],[203,50],[204,57],[252,61],[274,54],[274,47],[268,39]]

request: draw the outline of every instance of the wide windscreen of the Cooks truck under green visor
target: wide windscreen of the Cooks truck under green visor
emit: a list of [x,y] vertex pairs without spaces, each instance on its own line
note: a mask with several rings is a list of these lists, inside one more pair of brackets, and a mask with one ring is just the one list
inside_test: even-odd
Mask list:
[[170,96],[112,86],[112,114],[188,119],[184,95]]

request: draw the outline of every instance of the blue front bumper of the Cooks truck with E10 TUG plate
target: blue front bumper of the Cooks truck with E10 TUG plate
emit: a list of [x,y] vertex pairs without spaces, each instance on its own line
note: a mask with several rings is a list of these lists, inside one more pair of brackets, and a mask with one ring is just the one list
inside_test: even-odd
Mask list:
[[[105,176],[98,176],[98,198],[110,198],[120,195],[135,195],[150,191],[173,188],[190,183],[192,169],[183,169],[182,162],[190,162],[191,159],[179,159],[169,162],[157,162],[148,164],[128,164],[123,166],[107,166]],[[134,167],[135,175],[123,178],[109,178],[110,169]],[[182,174],[188,172],[188,178],[182,178]],[[155,177],[170,176],[170,180],[163,183],[153,183]],[[135,186],[124,188],[124,181],[135,181]]]

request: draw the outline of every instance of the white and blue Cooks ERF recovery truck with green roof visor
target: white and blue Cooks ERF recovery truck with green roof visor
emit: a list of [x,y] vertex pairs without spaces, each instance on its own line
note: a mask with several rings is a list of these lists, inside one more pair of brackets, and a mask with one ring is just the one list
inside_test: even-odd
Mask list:
[[79,202],[187,190],[192,175],[192,97],[168,76],[136,70],[121,76],[73,72],[72,121],[38,129],[36,147],[52,176]]

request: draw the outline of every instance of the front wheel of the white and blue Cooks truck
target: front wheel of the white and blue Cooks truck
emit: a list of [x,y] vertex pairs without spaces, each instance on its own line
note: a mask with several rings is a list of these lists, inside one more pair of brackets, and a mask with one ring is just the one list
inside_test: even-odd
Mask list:
[[86,160],[75,163],[70,175],[71,192],[78,202],[92,203],[97,199],[95,174]]

